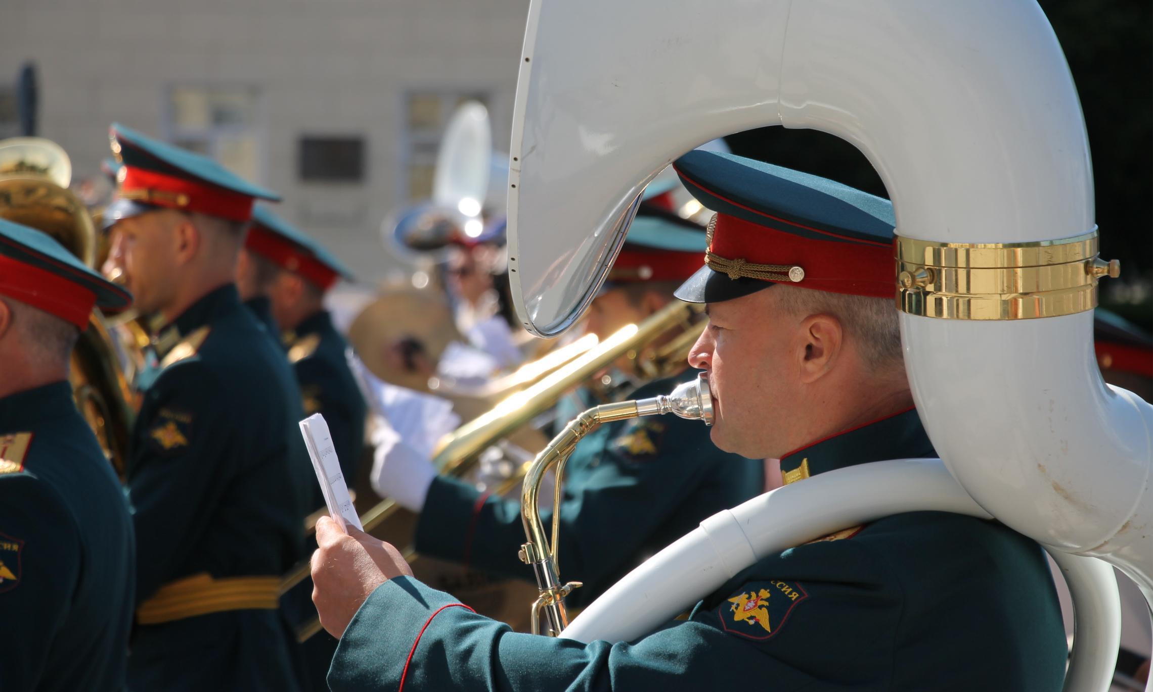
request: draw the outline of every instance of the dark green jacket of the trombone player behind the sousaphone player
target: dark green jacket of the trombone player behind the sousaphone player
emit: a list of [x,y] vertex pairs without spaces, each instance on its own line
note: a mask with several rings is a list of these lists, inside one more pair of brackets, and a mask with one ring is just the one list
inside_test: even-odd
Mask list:
[[[669,394],[696,372],[650,382],[630,398]],[[763,491],[763,462],[721,451],[700,421],[660,416],[602,425],[565,465],[558,562],[565,580],[585,584],[568,602],[590,602],[701,519]],[[551,516],[542,512],[545,525]],[[532,579],[517,557],[523,542],[518,500],[482,495],[457,479],[432,481],[416,527],[417,552]]]

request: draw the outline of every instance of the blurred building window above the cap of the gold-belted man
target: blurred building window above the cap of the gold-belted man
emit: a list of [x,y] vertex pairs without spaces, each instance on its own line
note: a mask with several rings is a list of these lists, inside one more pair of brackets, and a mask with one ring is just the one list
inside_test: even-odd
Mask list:
[[247,180],[261,180],[259,92],[244,85],[168,89],[165,137],[219,161]]

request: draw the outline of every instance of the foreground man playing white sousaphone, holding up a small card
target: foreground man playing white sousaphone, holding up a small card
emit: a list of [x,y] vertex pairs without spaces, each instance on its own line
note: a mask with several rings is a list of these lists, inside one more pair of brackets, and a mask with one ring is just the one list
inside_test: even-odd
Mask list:
[[[778,457],[785,484],[935,456],[902,362],[890,204],[811,175],[691,152],[714,220],[689,362],[713,440]],[[773,288],[773,290],[763,290]],[[314,601],[341,637],[333,690],[1060,690],[1067,647],[1040,548],[993,522],[911,512],[754,563],[687,622],[632,644],[512,633],[425,587],[391,547],[317,526]]]

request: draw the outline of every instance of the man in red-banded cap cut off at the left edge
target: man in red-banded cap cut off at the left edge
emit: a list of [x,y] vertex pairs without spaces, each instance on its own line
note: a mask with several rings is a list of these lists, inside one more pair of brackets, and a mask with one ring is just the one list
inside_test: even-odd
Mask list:
[[0,220],[0,690],[120,690],[136,546],[69,357],[127,291],[47,235]]

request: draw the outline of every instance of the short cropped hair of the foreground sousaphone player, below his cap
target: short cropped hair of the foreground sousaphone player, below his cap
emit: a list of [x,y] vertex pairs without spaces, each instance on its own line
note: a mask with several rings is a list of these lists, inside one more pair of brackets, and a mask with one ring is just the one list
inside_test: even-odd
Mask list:
[[892,298],[868,298],[778,284],[778,305],[791,315],[829,314],[841,322],[849,341],[873,372],[904,366],[900,324]]

